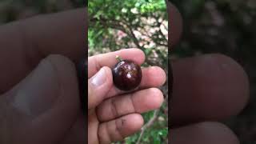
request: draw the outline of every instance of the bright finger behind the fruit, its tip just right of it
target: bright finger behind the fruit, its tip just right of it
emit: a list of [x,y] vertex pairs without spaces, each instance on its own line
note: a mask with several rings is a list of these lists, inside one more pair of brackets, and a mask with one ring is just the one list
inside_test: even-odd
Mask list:
[[[151,66],[142,69],[142,82],[138,86],[138,90],[162,86],[166,82],[166,73],[162,68],[158,66]],[[112,86],[106,98],[113,97],[118,94],[126,93],[123,90],[118,90],[115,86]]]

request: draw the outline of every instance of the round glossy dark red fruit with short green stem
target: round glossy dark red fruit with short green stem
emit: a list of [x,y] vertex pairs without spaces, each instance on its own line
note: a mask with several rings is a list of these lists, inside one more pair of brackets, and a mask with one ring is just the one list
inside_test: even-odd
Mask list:
[[134,90],[142,81],[142,69],[138,64],[130,60],[122,60],[112,69],[114,86],[119,90]]

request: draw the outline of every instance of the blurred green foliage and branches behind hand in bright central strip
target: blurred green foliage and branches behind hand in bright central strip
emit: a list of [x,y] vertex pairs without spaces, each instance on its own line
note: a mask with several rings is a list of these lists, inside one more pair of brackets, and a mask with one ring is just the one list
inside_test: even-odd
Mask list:
[[[123,48],[139,48],[146,54],[142,66],[160,66],[167,74],[168,19],[165,0],[90,0],[89,56]],[[167,142],[167,83],[161,87],[165,102],[160,110],[143,114],[145,126],[117,143]]]

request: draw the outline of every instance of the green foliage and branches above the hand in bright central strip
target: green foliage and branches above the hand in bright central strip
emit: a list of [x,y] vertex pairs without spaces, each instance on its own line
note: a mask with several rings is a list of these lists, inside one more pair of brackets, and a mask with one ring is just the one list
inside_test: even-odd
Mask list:
[[[92,51],[137,47],[146,64],[167,64],[167,14],[164,0],[95,0],[88,2],[88,40]],[[158,56],[159,61],[152,59]],[[152,63],[156,62],[156,63]]]

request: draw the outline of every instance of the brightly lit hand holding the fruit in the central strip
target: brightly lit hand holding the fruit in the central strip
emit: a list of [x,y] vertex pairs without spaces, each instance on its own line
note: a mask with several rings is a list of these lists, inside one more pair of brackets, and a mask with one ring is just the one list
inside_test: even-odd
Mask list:
[[158,88],[166,81],[164,70],[157,66],[142,68],[142,82],[130,94],[113,85],[112,68],[119,55],[141,65],[142,50],[126,49],[88,58],[88,143],[121,141],[143,125],[141,113],[158,109],[163,95]]

